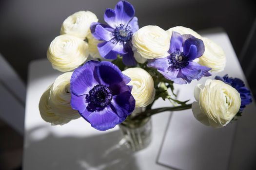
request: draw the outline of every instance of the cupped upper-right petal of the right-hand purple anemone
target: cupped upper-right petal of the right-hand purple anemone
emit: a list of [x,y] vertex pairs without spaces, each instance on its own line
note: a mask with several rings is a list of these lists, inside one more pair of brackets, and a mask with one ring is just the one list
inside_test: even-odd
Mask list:
[[[188,54],[189,51],[190,51],[191,45],[195,45],[197,47],[196,58],[203,55],[203,53],[204,53],[204,44],[203,44],[203,41],[201,39],[198,39],[198,38],[196,38],[196,37],[194,37],[193,35],[190,35],[190,34],[184,34],[182,36],[183,36],[183,39],[186,39],[184,41],[184,45],[183,45],[183,52],[184,53]],[[186,38],[184,38],[184,37],[186,37]]]

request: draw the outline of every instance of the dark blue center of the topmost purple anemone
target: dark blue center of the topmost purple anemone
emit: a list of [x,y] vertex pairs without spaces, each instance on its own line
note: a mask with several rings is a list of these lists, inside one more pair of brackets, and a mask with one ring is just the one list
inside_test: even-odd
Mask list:
[[118,41],[129,41],[133,36],[131,27],[125,24],[120,24],[113,34]]

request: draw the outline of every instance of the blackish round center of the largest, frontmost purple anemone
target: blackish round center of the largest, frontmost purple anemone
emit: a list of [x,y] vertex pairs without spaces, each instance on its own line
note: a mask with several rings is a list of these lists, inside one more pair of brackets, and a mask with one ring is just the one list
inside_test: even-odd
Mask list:
[[87,109],[91,112],[101,111],[110,104],[113,99],[112,92],[106,85],[95,85],[86,95]]

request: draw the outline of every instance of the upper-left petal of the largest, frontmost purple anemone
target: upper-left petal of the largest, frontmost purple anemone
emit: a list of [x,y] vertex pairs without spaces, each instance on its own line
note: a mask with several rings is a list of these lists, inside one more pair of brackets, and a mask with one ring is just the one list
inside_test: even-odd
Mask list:
[[[96,83],[94,79],[94,68],[98,61],[88,61],[83,66],[75,69],[70,79],[70,90],[77,96],[86,94],[90,87]],[[84,74],[86,72],[86,74]]]

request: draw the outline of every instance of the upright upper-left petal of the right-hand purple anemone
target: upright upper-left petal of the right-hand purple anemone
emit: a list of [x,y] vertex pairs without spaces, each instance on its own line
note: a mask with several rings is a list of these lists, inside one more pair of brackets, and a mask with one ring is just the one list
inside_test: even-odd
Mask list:
[[170,49],[168,52],[171,54],[177,50],[181,51],[182,42],[182,35],[174,31],[171,37]]

